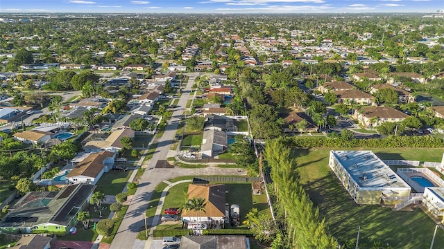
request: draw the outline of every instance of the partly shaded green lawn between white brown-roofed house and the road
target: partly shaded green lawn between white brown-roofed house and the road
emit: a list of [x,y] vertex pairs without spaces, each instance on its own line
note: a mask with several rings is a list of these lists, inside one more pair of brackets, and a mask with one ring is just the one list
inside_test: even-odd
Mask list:
[[100,178],[99,182],[96,184],[96,191],[112,195],[119,194],[122,192],[123,187],[125,187],[132,173],[132,170],[126,172],[114,172],[111,170],[110,172],[103,174]]

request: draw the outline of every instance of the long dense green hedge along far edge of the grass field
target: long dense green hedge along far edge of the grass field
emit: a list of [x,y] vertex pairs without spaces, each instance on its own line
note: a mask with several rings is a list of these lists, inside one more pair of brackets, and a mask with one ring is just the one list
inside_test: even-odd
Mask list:
[[440,148],[444,147],[443,138],[432,136],[388,136],[386,138],[352,139],[287,137],[284,143],[291,147],[370,147],[370,148]]

